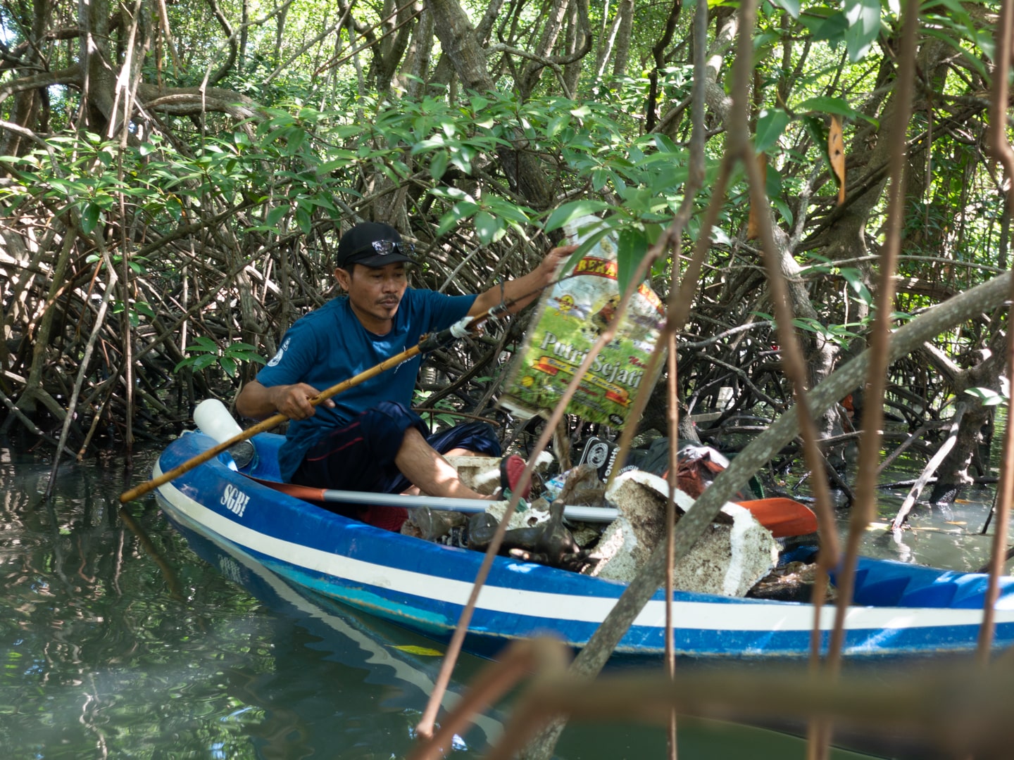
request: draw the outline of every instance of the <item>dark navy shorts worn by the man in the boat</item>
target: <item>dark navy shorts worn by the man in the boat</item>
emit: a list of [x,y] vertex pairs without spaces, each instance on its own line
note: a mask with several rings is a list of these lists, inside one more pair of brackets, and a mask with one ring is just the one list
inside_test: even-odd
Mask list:
[[465,423],[431,434],[419,414],[403,404],[382,401],[311,446],[292,475],[292,482],[317,488],[401,493],[412,483],[399,471],[394,457],[410,428],[422,433],[441,454],[451,449],[491,457],[501,454],[496,432],[486,423]]

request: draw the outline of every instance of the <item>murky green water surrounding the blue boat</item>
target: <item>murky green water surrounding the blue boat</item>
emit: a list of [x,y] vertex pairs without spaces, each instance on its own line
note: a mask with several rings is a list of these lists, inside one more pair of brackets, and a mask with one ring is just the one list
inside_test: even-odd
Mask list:
[[[122,514],[118,496],[146,479],[154,452],[135,457],[133,473],[117,456],[65,463],[47,502],[50,460],[19,446],[0,442],[4,757],[396,758],[412,750],[440,665],[432,642],[309,604],[241,558],[205,561],[152,498]],[[989,538],[972,535],[981,504],[923,512],[899,541],[869,532],[867,553],[962,568],[985,560]],[[454,688],[483,665],[462,658]],[[499,730],[483,718],[453,756],[482,756]],[[559,752],[663,757],[664,747],[656,728],[575,726]],[[802,753],[784,735],[681,724],[684,760]]]

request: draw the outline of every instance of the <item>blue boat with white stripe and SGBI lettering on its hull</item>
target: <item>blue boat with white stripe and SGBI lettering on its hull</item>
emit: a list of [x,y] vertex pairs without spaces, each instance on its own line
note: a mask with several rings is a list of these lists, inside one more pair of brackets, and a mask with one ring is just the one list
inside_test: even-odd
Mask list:
[[[226,453],[159,486],[177,525],[237,548],[306,593],[340,602],[446,640],[483,560],[479,552],[380,530],[279,492],[281,436],[262,433],[242,470]],[[188,433],[160,455],[155,476],[207,451],[215,441]],[[257,479],[255,479],[257,478]],[[861,559],[846,621],[845,655],[926,657],[974,650],[987,577]],[[584,645],[626,585],[497,557],[469,625],[465,647],[483,655],[515,638],[551,633]],[[995,647],[1014,643],[1014,578],[1001,579]],[[801,659],[813,608],[804,603],[676,592],[675,650],[695,658]],[[826,644],[834,609],[824,608]],[[622,656],[659,656],[665,598],[659,591],[621,640]]]

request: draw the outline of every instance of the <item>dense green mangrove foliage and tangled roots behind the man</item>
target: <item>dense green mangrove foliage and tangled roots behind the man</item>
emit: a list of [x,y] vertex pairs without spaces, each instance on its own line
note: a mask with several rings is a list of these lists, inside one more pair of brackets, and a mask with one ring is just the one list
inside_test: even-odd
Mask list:
[[[737,5],[713,4],[698,29],[694,11],[678,0],[4,4],[8,424],[42,404],[82,448],[96,433],[130,444],[175,430],[333,295],[332,252],[359,219],[417,242],[417,285],[466,293],[526,271],[565,221],[595,213],[620,235],[622,280],[655,256],[665,297],[718,193],[678,397],[697,412],[733,388],[707,435],[734,446],[792,397],[759,215],[774,223],[809,383],[865,345],[887,234],[886,135],[910,66],[898,318],[1007,267],[1009,178],[985,148],[996,4],[923,3],[918,54],[901,60],[896,3],[763,3],[744,92],[766,207],[749,203],[742,162],[717,189],[743,128]],[[663,233],[681,208],[672,241]],[[913,429],[955,399],[975,403],[955,473],[992,419],[979,402],[1001,399],[1003,325],[984,313],[891,369],[888,402]],[[436,357],[420,401],[503,420],[495,380],[522,334],[523,320]],[[664,420],[660,391],[644,430]],[[828,414],[824,434],[843,425]]]

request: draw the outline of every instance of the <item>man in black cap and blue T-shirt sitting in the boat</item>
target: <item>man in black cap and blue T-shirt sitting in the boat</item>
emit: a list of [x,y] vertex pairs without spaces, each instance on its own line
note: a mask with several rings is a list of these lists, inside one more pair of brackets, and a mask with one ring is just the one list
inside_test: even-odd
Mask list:
[[[416,356],[313,406],[320,390],[414,347],[421,335],[479,316],[500,303],[515,313],[552,284],[575,246],[553,248],[539,264],[485,293],[447,296],[408,287],[411,243],[387,224],[366,222],[339,240],[335,278],[345,293],[298,319],[275,357],[236,397],[236,409],[254,420],[288,416],[279,451],[288,482],[343,490],[400,493],[418,488],[435,497],[489,499],[461,482],[444,456],[498,457],[500,443],[485,423],[467,423],[431,435],[411,402],[421,358]],[[524,462],[509,457],[501,481],[517,482]],[[524,495],[526,496],[526,495]],[[397,530],[404,510],[377,508],[365,522]]]

